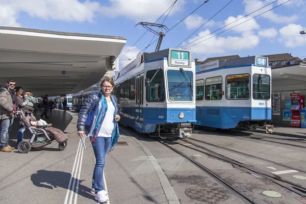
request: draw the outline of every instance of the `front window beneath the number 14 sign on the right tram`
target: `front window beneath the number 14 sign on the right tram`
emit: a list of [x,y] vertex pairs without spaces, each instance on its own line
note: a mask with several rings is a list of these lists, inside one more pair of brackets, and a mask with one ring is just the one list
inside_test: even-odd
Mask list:
[[270,96],[270,76],[266,74],[253,74],[253,98],[269,100]]

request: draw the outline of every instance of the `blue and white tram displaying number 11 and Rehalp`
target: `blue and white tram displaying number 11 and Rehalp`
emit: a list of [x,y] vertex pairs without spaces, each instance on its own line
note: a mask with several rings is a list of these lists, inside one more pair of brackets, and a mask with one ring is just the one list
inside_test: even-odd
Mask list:
[[115,74],[120,123],[151,137],[190,137],[195,64],[188,50],[138,54]]

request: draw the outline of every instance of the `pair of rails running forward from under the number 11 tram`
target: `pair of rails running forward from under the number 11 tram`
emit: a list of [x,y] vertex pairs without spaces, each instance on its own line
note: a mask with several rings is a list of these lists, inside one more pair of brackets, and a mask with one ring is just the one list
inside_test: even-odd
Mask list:
[[[159,139],[156,139],[157,141],[159,141],[160,143],[164,144],[165,146],[167,146],[168,148],[172,149],[173,151],[177,152],[178,154],[182,155],[184,158],[188,159],[189,161],[191,161],[192,163],[196,164],[197,166],[199,166],[202,170],[204,170],[205,172],[210,173],[211,170],[207,169],[205,166],[201,165],[201,164],[198,164],[198,162],[196,162],[195,160],[193,160],[192,158],[188,157],[187,155],[185,155],[182,151],[179,151],[173,147],[171,147],[169,144],[165,144],[164,142],[160,141]],[[191,146],[186,146],[184,144],[181,144],[180,142],[176,142],[176,141],[173,141],[173,140],[167,140],[169,142],[172,142],[174,144],[179,144],[181,146],[184,146],[185,148],[189,148],[189,149],[193,149],[197,152],[200,152],[201,154],[205,154],[207,156],[210,156],[210,157],[213,157],[213,158],[216,158],[220,161],[223,161],[223,162],[226,162],[226,163],[229,163],[229,164],[232,164],[234,168],[240,168],[241,170],[246,170],[247,172],[253,172],[255,174],[258,174],[260,176],[262,176],[263,178],[271,181],[272,183],[274,184],[277,184],[278,186],[281,186],[283,188],[286,188],[287,190],[289,191],[292,191],[302,197],[306,197],[306,188],[300,186],[300,185],[297,185],[297,184],[294,184],[292,182],[289,182],[289,181],[286,181],[286,180],[283,180],[280,176],[278,175],[274,175],[270,172],[266,172],[266,171],[263,171],[259,168],[256,168],[256,167],[253,167],[253,166],[250,166],[250,165],[246,165],[246,164],[243,164],[243,163],[240,163],[240,162],[237,162],[231,158],[228,158],[226,156],[223,156],[221,154],[219,154],[218,152],[215,152],[213,150],[210,150],[208,148],[205,148],[205,147],[202,147],[202,146],[199,146],[199,145],[196,145],[196,144],[192,144],[194,146],[196,146],[197,148],[201,148],[203,150],[200,150],[200,149],[197,149],[197,148],[194,148],[194,147],[191,147]],[[186,140],[182,140],[184,142],[186,142]],[[190,142],[187,142],[187,143],[190,143]],[[191,143],[190,143],[191,144]],[[212,171],[211,171],[212,172]],[[243,194],[242,192],[239,192],[239,190],[235,189],[235,187],[233,187],[232,185],[228,185],[228,183],[222,179],[221,176],[217,175],[216,173],[212,172],[214,174],[214,177],[222,182],[224,185],[226,185],[228,188],[230,188],[232,191],[235,191],[236,193],[238,193],[240,196],[243,197],[244,200],[250,200],[250,198],[248,196],[246,196],[245,194]],[[232,188],[233,187],[233,188]],[[251,203],[254,203],[253,201]]]

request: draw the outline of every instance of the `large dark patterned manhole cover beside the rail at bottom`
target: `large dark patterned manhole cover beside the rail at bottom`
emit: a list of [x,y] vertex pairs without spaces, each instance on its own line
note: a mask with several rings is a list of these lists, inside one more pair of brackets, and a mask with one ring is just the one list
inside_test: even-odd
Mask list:
[[227,199],[227,195],[214,188],[193,187],[186,190],[186,195],[194,200],[203,202],[220,202]]

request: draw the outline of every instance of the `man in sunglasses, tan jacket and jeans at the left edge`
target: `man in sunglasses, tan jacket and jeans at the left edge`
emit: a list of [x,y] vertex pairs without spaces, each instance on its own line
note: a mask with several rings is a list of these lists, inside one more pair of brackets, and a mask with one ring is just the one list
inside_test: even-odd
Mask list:
[[9,145],[9,133],[16,113],[20,113],[14,90],[15,85],[15,80],[8,79],[6,86],[0,88],[0,150],[4,152],[10,152],[14,149]]

